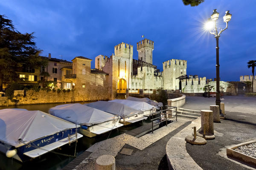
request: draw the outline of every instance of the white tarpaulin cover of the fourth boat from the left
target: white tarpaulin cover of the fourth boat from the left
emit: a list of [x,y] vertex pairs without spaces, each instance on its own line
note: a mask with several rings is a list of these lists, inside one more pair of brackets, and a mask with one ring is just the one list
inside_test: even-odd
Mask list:
[[108,102],[116,102],[116,103],[121,103],[123,105],[127,105],[131,108],[140,110],[140,111],[149,111],[151,109],[154,109],[154,106],[149,105],[146,102],[139,102],[139,101],[132,101],[132,100],[123,100],[123,99],[114,99],[110,100]]

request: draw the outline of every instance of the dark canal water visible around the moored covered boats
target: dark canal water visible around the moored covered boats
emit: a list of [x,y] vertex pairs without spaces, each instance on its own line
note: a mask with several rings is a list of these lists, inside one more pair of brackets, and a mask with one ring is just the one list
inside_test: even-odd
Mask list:
[[[89,102],[79,102],[81,104],[89,103]],[[51,104],[38,104],[38,105],[17,105],[17,106],[9,106],[8,108],[22,108],[27,109],[29,111],[40,110],[45,113],[49,113],[49,109],[55,107],[57,105],[63,105],[63,103],[51,103]],[[5,109],[7,107],[0,107],[0,109]],[[70,161],[72,161],[75,157],[75,147],[77,155],[80,155],[85,150],[87,150],[93,144],[100,142],[102,140],[112,138],[119,134],[125,133],[129,130],[132,130],[136,127],[145,125],[150,123],[149,120],[144,120],[140,122],[133,123],[131,125],[122,126],[118,129],[112,130],[109,133],[104,133],[99,136],[95,136],[93,138],[89,138],[83,136],[77,142],[73,142],[70,146],[68,144],[63,147],[54,150],[55,153],[46,153],[42,155],[40,158],[34,159],[32,161],[28,161],[25,163],[21,163],[16,159],[7,158],[5,154],[0,153],[0,170],[61,170],[62,167],[66,166]],[[38,132],[40,133],[40,132]],[[70,155],[70,156],[64,156]]]

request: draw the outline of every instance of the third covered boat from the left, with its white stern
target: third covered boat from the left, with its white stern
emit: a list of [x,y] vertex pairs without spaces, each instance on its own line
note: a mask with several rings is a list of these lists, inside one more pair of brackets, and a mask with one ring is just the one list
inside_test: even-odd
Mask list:
[[143,112],[137,109],[131,108],[127,105],[116,102],[98,101],[93,103],[84,104],[91,108],[96,108],[101,111],[105,111],[114,115],[121,116],[120,123],[128,125],[130,123],[138,122],[147,117],[143,116]]

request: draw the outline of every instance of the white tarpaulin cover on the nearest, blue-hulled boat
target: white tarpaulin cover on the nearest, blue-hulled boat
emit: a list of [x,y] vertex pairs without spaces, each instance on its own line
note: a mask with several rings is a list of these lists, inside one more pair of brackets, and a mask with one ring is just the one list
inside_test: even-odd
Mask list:
[[0,110],[0,141],[15,147],[76,127],[42,111]]

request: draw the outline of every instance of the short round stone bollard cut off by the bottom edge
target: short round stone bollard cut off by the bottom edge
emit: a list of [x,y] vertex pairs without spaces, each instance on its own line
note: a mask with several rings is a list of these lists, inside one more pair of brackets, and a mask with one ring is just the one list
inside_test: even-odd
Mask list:
[[115,158],[111,155],[102,155],[96,159],[95,170],[115,170]]

